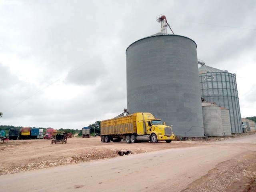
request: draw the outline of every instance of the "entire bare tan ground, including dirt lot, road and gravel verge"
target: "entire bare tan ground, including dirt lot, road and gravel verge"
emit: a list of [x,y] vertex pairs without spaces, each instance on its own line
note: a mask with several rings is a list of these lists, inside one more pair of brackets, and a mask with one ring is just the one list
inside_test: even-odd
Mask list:
[[[118,156],[119,150],[133,154]],[[18,140],[0,146],[0,171],[8,174],[0,176],[0,185],[11,191],[45,191],[45,185],[34,183],[51,180],[68,191],[226,191],[240,186],[246,189],[255,187],[255,153],[256,134],[217,142],[169,144],[102,143],[99,137],[70,138],[67,144]],[[102,158],[109,159],[98,160]],[[77,164],[84,161],[91,162]],[[57,167],[34,170],[49,166]],[[33,171],[23,172],[26,170]],[[10,174],[14,172],[23,173]],[[25,180],[19,185],[11,184],[22,178]],[[122,186],[113,188],[117,181]]]

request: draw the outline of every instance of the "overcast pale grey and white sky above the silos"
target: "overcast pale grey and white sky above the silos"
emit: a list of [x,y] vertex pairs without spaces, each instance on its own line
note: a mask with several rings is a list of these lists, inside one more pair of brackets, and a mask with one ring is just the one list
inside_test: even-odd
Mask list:
[[160,32],[160,14],[206,65],[236,73],[241,115],[256,116],[255,0],[0,0],[0,125],[81,129],[122,113],[126,48]]

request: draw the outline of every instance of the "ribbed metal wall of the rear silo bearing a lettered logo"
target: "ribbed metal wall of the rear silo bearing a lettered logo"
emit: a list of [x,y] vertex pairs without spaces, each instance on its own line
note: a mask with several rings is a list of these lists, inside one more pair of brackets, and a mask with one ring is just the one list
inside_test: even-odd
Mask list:
[[202,97],[229,109],[232,133],[242,133],[236,76],[228,72],[199,74]]

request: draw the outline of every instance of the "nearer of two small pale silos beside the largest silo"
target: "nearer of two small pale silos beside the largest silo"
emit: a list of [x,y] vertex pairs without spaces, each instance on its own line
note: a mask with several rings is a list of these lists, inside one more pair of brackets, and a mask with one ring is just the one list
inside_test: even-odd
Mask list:
[[221,119],[220,106],[202,102],[204,135],[205,136],[223,136],[223,127]]

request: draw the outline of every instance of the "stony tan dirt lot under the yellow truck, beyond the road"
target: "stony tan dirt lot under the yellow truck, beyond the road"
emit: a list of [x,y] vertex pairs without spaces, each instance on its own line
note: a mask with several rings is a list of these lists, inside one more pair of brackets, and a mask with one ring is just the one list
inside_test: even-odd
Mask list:
[[120,150],[134,154],[201,145],[202,142],[102,143],[101,138],[68,138],[67,144],[51,140],[10,140],[0,145],[0,175],[118,156]]

